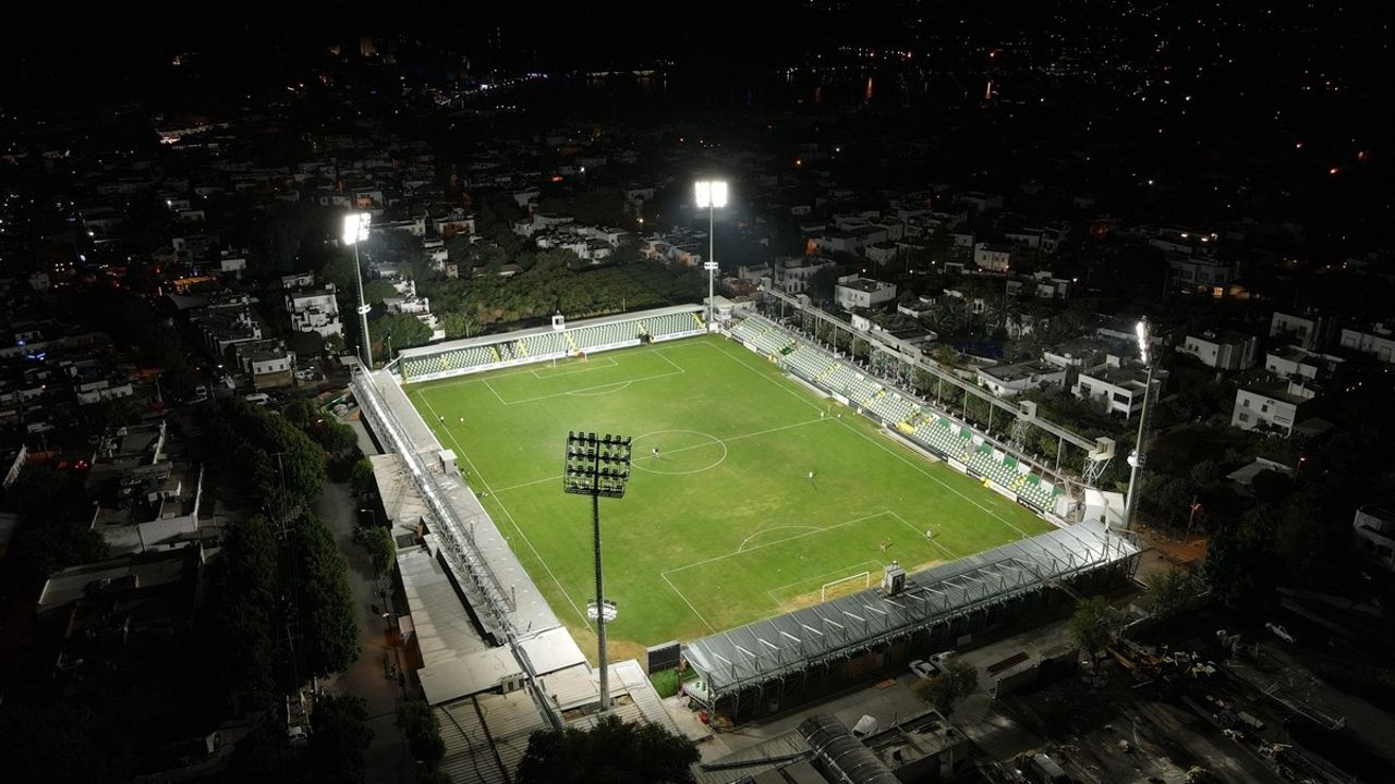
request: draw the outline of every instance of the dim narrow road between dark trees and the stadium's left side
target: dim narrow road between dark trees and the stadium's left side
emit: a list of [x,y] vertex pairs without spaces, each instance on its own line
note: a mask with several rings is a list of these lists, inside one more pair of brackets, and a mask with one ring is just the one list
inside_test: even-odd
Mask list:
[[402,688],[395,678],[386,677],[384,667],[386,656],[396,668],[395,651],[388,646],[386,621],[379,612],[374,612],[374,607],[382,610],[384,600],[377,596],[378,583],[368,555],[353,541],[359,505],[347,485],[326,481],[324,492],[315,499],[315,513],[333,532],[335,543],[349,561],[349,587],[359,608],[359,635],[363,642],[359,661],[331,678],[325,689],[331,693],[357,695],[368,703],[372,742],[364,749],[364,780],[410,781],[412,760],[407,759],[402,734],[393,725]]

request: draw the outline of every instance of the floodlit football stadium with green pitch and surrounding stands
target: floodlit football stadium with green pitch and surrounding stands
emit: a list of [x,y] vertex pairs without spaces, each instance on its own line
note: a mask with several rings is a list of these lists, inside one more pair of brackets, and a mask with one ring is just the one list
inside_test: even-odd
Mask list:
[[[598,501],[611,661],[681,660],[686,693],[731,720],[967,642],[1138,555],[1091,487],[1112,442],[778,294],[763,314],[558,315],[409,349],[354,393],[504,661],[502,678],[427,661],[434,704],[506,679],[555,717],[569,706],[540,678],[589,667],[582,650],[594,664],[591,506],[562,487],[573,431],[631,437],[628,491]],[[958,416],[971,396],[997,428]],[[1059,438],[1053,462],[1023,449],[1035,431]]]

